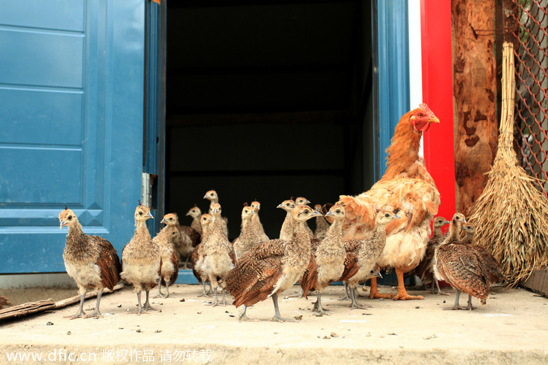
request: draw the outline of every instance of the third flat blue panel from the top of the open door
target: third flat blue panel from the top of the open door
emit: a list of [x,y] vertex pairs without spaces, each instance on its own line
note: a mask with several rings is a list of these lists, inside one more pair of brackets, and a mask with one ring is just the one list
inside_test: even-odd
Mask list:
[[80,146],[83,112],[82,91],[0,87],[0,143]]

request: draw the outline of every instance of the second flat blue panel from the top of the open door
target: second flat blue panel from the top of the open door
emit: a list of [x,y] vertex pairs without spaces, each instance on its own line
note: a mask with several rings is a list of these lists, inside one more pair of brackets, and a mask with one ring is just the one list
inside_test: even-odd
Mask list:
[[0,29],[0,49],[0,84],[82,88],[83,34]]

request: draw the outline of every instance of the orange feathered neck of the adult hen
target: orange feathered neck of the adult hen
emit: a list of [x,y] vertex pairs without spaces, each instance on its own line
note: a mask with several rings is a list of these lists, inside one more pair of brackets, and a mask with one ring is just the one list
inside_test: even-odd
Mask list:
[[416,131],[411,124],[411,116],[414,110],[403,114],[394,130],[394,136],[390,146],[386,149],[388,160],[386,161],[386,173],[381,180],[391,180],[408,171],[419,160],[419,146],[423,132]]

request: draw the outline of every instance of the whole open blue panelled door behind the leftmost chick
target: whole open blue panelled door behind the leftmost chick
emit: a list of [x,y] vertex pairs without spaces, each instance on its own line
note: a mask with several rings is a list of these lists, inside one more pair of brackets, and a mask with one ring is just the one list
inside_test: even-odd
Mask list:
[[145,0],[0,0],[0,273],[64,271],[65,204],[131,238],[144,32]]

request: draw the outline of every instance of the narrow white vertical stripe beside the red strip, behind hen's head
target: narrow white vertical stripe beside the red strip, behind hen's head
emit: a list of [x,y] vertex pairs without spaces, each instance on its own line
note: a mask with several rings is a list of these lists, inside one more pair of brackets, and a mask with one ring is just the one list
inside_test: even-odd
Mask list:
[[[423,64],[421,57],[421,0],[408,1],[409,34],[409,105],[418,108],[423,102]],[[419,156],[423,157],[423,140]]]

